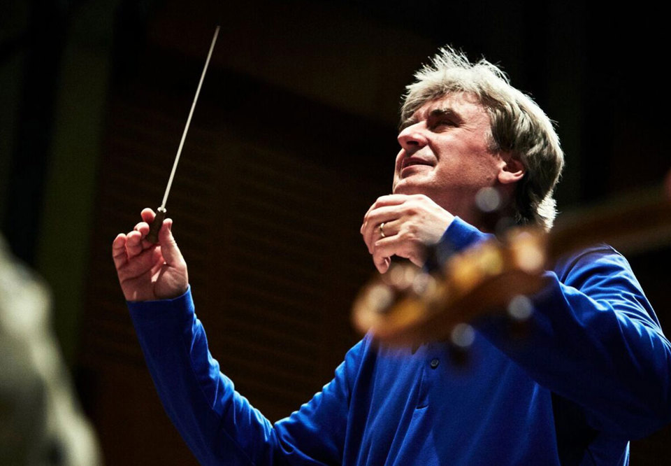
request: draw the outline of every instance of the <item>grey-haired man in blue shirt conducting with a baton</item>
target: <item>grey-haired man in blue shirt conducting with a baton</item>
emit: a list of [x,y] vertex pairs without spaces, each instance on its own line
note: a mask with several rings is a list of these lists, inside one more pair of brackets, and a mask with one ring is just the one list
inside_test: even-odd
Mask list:
[[[377,269],[486,238],[483,188],[514,199],[504,215],[549,229],[563,154],[540,108],[496,66],[450,48],[416,78],[393,194],[361,227]],[[159,396],[203,464],[625,465],[629,439],[670,421],[671,346],[626,260],[596,246],[546,272],[526,339],[496,318],[477,323],[465,370],[440,342],[365,337],[322,392],[273,425],[208,353],[171,220],[157,248],[143,241],[153,212],[142,218],[115,239],[115,265]]]

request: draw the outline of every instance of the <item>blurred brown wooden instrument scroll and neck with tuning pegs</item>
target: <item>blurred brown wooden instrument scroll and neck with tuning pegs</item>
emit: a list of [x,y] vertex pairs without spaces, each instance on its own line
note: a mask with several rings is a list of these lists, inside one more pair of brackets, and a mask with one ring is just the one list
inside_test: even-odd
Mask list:
[[671,173],[664,196],[642,193],[569,213],[549,233],[512,227],[452,255],[431,273],[394,264],[359,293],[354,327],[396,346],[448,340],[468,348],[468,324],[480,316],[507,313],[513,323],[524,323],[532,312],[526,295],[541,290],[543,272],[559,257],[596,243],[621,253],[671,243]]

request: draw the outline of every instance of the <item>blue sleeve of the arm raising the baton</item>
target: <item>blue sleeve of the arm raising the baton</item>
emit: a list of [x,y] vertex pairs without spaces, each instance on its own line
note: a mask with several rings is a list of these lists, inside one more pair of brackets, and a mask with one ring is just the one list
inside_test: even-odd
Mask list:
[[357,348],[321,393],[273,426],[219,372],[190,289],[175,299],[129,302],[161,402],[203,465],[340,463]]

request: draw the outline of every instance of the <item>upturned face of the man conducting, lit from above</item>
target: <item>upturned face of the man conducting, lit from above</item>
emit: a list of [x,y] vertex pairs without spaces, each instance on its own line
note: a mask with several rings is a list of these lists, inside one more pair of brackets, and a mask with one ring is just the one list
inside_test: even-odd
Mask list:
[[424,194],[455,216],[474,222],[475,195],[494,186],[505,167],[490,150],[489,115],[471,94],[428,101],[402,125],[395,194]]

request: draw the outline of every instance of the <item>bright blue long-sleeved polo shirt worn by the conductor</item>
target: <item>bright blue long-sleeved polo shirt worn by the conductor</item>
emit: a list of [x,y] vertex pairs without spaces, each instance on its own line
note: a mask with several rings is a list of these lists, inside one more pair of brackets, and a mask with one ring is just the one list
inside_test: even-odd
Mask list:
[[[456,218],[442,247],[484,237]],[[190,290],[128,305],[159,397],[204,465],[626,465],[630,439],[671,421],[671,345],[609,246],[546,278],[524,339],[482,320],[462,367],[442,343],[364,337],[274,425],[219,372]]]

